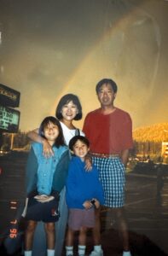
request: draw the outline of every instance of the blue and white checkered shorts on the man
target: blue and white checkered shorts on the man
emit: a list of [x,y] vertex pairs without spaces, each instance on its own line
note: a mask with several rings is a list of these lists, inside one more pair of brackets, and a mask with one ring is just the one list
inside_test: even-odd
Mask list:
[[99,170],[99,178],[104,189],[105,207],[123,207],[125,204],[125,166],[119,157],[93,157]]

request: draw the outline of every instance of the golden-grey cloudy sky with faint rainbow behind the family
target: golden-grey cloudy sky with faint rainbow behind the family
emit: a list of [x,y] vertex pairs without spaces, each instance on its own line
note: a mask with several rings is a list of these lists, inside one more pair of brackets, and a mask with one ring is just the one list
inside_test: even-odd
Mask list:
[[134,128],[168,122],[167,24],[165,0],[0,0],[0,84],[21,93],[20,129],[54,115],[68,92],[84,115],[97,108],[104,77]]

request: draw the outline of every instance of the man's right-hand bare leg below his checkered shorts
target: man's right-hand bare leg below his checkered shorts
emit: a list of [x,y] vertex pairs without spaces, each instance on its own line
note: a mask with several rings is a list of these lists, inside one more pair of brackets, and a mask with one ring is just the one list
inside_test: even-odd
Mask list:
[[115,218],[117,221],[117,224],[119,226],[119,235],[121,236],[121,239],[123,241],[123,249],[124,252],[123,255],[130,255],[130,245],[129,245],[129,232],[128,232],[128,224],[125,218],[125,209],[124,207],[120,208],[113,208]]

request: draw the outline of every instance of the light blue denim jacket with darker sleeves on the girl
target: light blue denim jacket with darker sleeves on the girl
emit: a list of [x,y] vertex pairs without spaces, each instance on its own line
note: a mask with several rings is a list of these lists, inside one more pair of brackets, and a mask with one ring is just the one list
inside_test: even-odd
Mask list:
[[26,193],[38,190],[38,194],[51,195],[61,192],[67,179],[70,154],[66,146],[53,147],[54,156],[43,156],[43,145],[32,143],[26,165]]

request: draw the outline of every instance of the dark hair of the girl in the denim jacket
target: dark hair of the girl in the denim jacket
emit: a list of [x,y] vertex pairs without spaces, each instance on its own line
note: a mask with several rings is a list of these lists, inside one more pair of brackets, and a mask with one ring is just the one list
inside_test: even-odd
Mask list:
[[42,123],[41,123],[41,125],[39,127],[39,132],[38,132],[39,135],[41,137],[46,138],[44,136],[44,129],[45,129],[45,127],[47,127],[49,125],[49,123],[52,123],[52,124],[56,125],[58,127],[58,131],[59,131],[59,135],[55,139],[54,146],[56,148],[59,148],[60,146],[65,145],[61,124],[60,124],[59,120],[56,119],[54,116],[48,116],[45,119],[43,119],[43,121],[42,121]]

